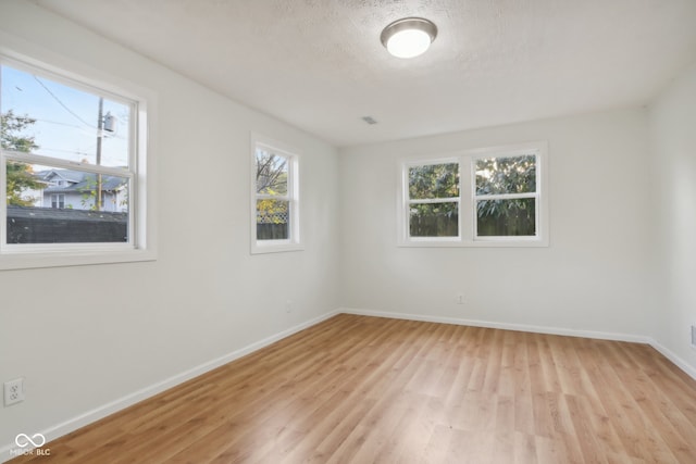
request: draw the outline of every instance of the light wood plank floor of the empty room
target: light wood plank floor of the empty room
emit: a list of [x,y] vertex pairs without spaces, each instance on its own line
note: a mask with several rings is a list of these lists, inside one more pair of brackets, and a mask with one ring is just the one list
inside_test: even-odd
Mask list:
[[645,344],[338,315],[45,448],[34,462],[696,463],[696,381]]

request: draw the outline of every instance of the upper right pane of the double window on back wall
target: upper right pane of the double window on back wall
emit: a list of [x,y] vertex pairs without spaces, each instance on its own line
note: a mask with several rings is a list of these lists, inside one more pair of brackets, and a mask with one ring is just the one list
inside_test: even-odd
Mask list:
[[476,195],[530,193],[535,191],[535,155],[476,160]]

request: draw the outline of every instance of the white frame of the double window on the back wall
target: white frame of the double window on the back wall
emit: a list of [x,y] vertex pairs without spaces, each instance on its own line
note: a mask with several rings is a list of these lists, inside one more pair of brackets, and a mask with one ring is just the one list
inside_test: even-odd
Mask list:
[[[511,158],[534,154],[536,156],[536,192],[477,196],[475,162],[478,159]],[[535,141],[499,147],[462,150],[447,155],[430,155],[403,159],[398,163],[397,192],[397,244],[399,247],[548,247],[548,143]],[[409,168],[432,164],[459,163],[459,236],[410,237]],[[534,198],[536,201],[536,235],[534,236],[476,236],[477,199]],[[442,202],[440,199],[433,200]],[[422,202],[422,201],[421,201]]]

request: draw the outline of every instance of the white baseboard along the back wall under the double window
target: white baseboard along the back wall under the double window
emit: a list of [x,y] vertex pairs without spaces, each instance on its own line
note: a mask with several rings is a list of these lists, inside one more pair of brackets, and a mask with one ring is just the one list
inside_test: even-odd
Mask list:
[[339,312],[346,313],[346,314],[364,315],[364,316],[391,317],[395,319],[423,321],[428,323],[468,325],[473,327],[487,327],[487,328],[500,328],[505,330],[531,331],[535,334],[564,335],[568,337],[584,337],[584,338],[597,338],[601,340],[631,341],[634,343],[649,343],[650,341],[648,337],[631,335],[631,334],[617,334],[617,333],[593,331],[593,330],[575,330],[575,329],[569,329],[569,328],[534,326],[534,325],[527,325],[527,324],[496,323],[496,322],[478,321],[478,319],[462,319],[458,317],[443,317],[443,316],[430,316],[430,315],[426,316],[426,315],[420,315],[420,314],[391,313],[387,311],[357,310],[352,308],[341,308]]

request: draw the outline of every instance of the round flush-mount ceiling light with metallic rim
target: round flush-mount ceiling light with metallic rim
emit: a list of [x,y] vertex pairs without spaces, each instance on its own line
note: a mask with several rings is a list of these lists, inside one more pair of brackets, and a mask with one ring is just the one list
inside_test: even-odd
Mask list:
[[422,17],[405,17],[382,32],[382,45],[397,58],[413,58],[425,53],[437,37],[437,26]]

